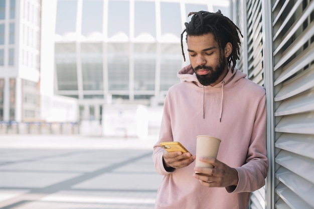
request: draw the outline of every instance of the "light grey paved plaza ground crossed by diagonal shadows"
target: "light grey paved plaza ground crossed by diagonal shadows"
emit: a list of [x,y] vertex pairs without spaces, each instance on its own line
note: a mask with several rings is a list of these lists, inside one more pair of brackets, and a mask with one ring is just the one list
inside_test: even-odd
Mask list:
[[155,141],[0,135],[0,208],[153,208]]

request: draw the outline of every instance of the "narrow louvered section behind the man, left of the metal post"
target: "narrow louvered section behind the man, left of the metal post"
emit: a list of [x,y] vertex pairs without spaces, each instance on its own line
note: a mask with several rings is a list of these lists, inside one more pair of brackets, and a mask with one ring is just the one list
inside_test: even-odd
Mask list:
[[[236,24],[243,39],[237,67],[247,73],[247,78],[263,85],[262,7],[260,0],[235,0]],[[265,208],[265,187],[251,195],[250,208]]]

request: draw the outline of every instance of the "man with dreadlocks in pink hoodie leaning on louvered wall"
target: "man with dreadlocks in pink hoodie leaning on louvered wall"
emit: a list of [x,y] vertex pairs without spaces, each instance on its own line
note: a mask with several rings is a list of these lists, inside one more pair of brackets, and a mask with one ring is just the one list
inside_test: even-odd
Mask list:
[[[183,31],[191,64],[169,88],[152,155],[164,175],[155,208],[244,209],[268,169],[265,90],[235,68],[239,28],[220,10],[191,14]],[[197,135],[221,139],[217,159],[200,157],[213,168],[195,167]],[[162,141],[179,141],[190,153],[167,152]]]

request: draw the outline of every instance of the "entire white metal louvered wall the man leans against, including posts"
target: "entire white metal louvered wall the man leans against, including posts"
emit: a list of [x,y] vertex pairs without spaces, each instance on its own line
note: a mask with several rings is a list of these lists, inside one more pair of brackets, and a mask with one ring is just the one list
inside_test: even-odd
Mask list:
[[314,208],[314,0],[233,3],[247,38],[240,67],[267,96],[270,167],[249,206]]

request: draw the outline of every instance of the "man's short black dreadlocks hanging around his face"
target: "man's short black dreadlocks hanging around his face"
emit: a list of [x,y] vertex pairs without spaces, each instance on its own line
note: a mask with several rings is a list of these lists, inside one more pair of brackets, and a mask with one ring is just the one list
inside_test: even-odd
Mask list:
[[232,61],[232,72],[236,65],[236,60],[239,59],[240,55],[240,35],[243,37],[240,29],[226,16],[224,16],[220,10],[216,13],[209,11],[198,11],[190,12],[188,16],[192,15],[191,21],[186,22],[186,29],[181,33],[181,48],[184,61],[186,61],[184,50],[183,50],[183,34],[187,32],[186,41],[188,36],[199,36],[213,33],[215,40],[218,42],[221,51],[225,48],[227,42],[232,44],[232,52],[228,57],[228,65]]

